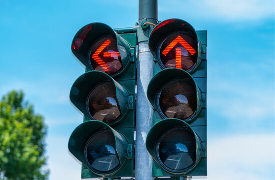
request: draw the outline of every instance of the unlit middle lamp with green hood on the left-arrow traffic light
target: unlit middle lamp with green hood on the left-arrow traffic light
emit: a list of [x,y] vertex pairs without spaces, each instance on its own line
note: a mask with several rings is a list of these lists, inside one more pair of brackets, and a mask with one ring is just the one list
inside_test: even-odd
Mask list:
[[[127,88],[102,71],[89,71],[76,79],[70,100],[90,119],[117,125],[133,110],[133,95]],[[133,122],[132,122],[133,123]]]

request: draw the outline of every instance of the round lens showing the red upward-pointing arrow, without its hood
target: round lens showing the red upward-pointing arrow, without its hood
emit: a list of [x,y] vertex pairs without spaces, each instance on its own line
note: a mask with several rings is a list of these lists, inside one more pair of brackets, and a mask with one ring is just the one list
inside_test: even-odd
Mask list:
[[177,32],[166,37],[160,46],[159,58],[165,67],[191,70],[197,62],[197,40],[190,35]]

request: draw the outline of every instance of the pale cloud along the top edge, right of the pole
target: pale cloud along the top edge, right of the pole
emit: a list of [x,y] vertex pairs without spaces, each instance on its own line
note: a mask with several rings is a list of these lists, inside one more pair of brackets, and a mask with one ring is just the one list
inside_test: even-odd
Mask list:
[[273,0],[159,0],[159,13],[175,12],[199,18],[254,20],[274,15]]

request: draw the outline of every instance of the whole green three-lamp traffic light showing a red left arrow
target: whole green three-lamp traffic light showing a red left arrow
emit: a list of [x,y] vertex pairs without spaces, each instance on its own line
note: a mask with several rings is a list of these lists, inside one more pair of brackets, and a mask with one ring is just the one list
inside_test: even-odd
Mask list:
[[72,104],[84,114],[68,142],[82,163],[81,176],[133,176],[136,33],[90,23],[76,33],[72,52],[86,67],[70,91]]

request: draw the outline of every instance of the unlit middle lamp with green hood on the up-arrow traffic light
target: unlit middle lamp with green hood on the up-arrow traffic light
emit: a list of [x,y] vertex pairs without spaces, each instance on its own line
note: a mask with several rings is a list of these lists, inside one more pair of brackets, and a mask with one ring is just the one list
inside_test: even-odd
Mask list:
[[166,68],[153,76],[147,98],[162,118],[191,122],[199,115],[202,94],[193,77],[179,68]]

